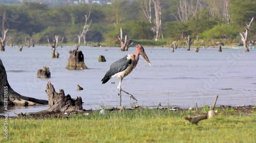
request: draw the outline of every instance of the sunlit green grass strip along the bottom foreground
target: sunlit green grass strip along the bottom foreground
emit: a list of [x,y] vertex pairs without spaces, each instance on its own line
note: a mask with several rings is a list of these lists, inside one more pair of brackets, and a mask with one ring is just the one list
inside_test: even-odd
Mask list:
[[183,119],[193,114],[143,109],[95,111],[69,119],[9,119],[9,139],[2,134],[0,142],[256,142],[255,115],[219,115],[196,126]]

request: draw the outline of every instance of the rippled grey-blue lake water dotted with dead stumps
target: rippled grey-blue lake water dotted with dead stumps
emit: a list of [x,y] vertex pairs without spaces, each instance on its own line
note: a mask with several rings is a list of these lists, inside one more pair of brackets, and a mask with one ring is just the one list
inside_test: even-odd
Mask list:
[[[55,90],[63,89],[72,98],[81,96],[84,109],[119,107],[117,85],[119,79],[110,79],[101,84],[101,79],[109,66],[127,53],[135,53],[135,48],[120,51],[118,47],[79,47],[84,54],[88,70],[67,70],[68,51],[72,46],[58,47],[59,59],[51,58],[51,47],[36,46],[18,51],[18,47],[6,46],[0,58],[7,71],[8,81],[17,93],[37,99],[46,99],[47,81]],[[138,102],[122,93],[122,105],[193,107],[212,106],[216,95],[218,105],[255,105],[256,104],[256,50],[244,52],[243,49],[200,48],[199,52],[186,49],[145,47],[150,67],[141,57],[137,67],[122,81],[122,89],[133,94]],[[106,62],[98,62],[104,55]],[[36,77],[38,69],[48,66],[50,79]],[[114,84],[111,82],[115,82]],[[77,84],[84,90],[77,91]],[[229,90],[224,90],[229,89]],[[15,107],[13,112],[33,112],[47,109],[48,106]]]

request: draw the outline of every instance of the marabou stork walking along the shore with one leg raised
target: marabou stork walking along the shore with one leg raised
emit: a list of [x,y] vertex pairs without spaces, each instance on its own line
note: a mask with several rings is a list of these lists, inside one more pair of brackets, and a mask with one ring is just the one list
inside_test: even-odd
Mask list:
[[120,106],[122,102],[121,92],[124,92],[128,95],[130,95],[131,98],[138,101],[132,94],[124,91],[121,89],[121,82],[125,76],[130,74],[133,69],[136,67],[139,61],[139,55],[142,55],[142,57],[146,60],[146,62],[151,66],[150,60],[148,60],[146,52],[144,51],[143,46],[140,44],[136,46],[136,55],[135,54],[127,54],[122,59],[114,62],[111,64],[109,71],[106,72],[104,77],[101,79],[102,84],[108,82],[110,78],[116,77],[120,79],[120,82],[118,84],[117,89],[120,91]]

